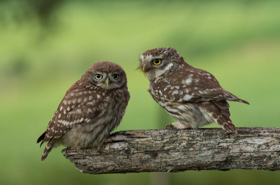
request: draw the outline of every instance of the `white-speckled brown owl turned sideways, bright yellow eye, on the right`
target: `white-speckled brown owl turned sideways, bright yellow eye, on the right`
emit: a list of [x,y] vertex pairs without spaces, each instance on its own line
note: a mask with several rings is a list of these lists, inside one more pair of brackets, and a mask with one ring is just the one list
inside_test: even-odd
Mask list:
[[171,47],[148,50],[140,61],[139,70],[150,80],[151,96],[176,119],[167,128],[198,128],[216,122],[225,131],[237,133],[228,101],[249,103],[225,91],[214,75],[190,66]]

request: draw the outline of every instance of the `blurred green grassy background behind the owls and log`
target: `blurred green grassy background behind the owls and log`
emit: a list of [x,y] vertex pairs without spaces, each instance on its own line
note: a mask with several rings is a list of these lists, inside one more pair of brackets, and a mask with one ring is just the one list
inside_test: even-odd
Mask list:
[[279,127],[280,1],[1,0],[0,184],[279,184],[280,172],[265,170],[88,175],[63,147],[40,162],[38,136],[95,61],[127,73],[131,100],[116,131],[174,121],[136,71],[140,54],[167,46],[251,103],[230,102],[235,126]]

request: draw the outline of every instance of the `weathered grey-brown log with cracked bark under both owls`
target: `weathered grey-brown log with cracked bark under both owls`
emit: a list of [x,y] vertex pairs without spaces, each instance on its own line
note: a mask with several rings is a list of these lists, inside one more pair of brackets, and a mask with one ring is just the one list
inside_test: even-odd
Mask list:
[[99,149],[63,149],[80,172],[280,170],[280,128],[141,130],[111,134]]

